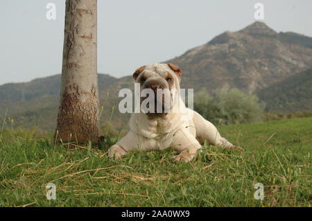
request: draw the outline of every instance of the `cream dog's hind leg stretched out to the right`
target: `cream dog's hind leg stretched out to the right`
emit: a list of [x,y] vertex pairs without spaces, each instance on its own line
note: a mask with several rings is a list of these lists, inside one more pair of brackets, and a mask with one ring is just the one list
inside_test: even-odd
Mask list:
[[243,151],[243,148],[233,145],[227,139],[223,138],[216,127],[197,112],[193,112],[193,122],[196,127],[196,136],[198,136],[200,141],[206,140],[209,144],[218,145],[222,148]]

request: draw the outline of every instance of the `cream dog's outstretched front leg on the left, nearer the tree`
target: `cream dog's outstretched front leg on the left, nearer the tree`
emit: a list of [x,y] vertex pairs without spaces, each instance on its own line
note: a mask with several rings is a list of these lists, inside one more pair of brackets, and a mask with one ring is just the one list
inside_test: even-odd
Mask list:
[[110,150],[108,150],[108,157],[114,157],[115,160],[121,159],[121,157],[136,148],[137,136],[131,131],[118,141],[115,145],[112,145]]

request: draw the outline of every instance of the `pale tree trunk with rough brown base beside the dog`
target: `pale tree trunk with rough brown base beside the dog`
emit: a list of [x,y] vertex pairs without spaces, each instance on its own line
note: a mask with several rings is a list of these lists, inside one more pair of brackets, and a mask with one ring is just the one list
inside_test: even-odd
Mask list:
[[67,0],[55,141],[97,143],[97,0]]

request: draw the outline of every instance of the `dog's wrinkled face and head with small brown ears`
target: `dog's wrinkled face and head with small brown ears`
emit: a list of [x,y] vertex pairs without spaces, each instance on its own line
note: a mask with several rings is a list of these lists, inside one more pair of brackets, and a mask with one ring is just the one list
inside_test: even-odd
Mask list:
[[[145,89],[154,95],[155,112],[146,112],[148,116],[166,116],[170,112],[177,89],[180,90],[181,75],[182,71],[179,67],[158,63],[142,66],[133,73],[135,82],[140,84],[141,92]],[[146,97],[141,97],[141,103],[148,96],[149,94],[146,94]],[[169,103],[165,102],[166,98],[170,98]],[[161,112],[157,110],[157,103],[162,106]]]

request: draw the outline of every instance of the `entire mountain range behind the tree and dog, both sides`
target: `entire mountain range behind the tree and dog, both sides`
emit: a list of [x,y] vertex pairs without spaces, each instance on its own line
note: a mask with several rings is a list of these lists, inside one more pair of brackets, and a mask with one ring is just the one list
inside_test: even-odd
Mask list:
[[[269,111],[290,112],[312,109],[312,38],[297,33],[277,33],[263,22],[254,22],[236,32],[226,31],[202,46],[168,60],[182,69],[182,88],[194,92],[204,87],[209,93],[225,85],[257,94]],[[134,70],[130,70],[132,73]],[[133,89],[132,76],[114,78],[98,75],[99,98],[105,105],[101,123],[125,127],[128,114],[118,112],[119,90]],[[108,98],[107,98],[108,93]],[[55,128],[60,97],[60,75],[31,82],[0,86],[0,114],[6,112],[24,127]],[[114,112],[112,113],[112,107]]]

